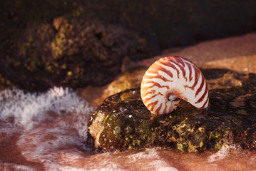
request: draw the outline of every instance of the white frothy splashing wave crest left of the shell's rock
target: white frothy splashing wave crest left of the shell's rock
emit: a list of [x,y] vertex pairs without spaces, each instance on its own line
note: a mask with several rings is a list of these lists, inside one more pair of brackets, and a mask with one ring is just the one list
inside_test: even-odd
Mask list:
[[[53,120],[48,111],[53,111],[57,115],[88,115],[92,110],[86,100],[70,88],[54,87],[46,93],[24,93],[19,89],[6,89],[0,92],[0,120],[11,124],[9,120],[14,118],[11,125],[14,128],[31,130],[45,120]],[[83,135],[84,131],[79,130],[79,133]]]

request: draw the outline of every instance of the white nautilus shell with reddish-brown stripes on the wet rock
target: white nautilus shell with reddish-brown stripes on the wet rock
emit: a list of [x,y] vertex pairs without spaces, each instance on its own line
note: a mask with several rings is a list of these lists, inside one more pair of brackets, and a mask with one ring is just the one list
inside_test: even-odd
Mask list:
[[177,108],[180,98],[197,108],[209,104],[208,86],[195,64],[179,56],[160,58],[143,76],[140,94],[144,105],[154,114]]

